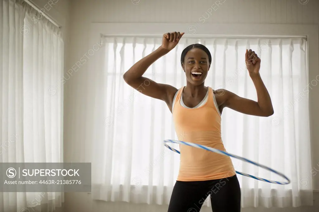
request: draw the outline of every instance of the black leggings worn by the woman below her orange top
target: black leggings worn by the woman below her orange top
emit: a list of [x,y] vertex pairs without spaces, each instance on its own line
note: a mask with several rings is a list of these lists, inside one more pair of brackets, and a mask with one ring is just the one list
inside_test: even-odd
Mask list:
[[176,181],[168,212],[199,212],[211,195],[213,212],[240,212],[241,190],[237,176],[206,181]]

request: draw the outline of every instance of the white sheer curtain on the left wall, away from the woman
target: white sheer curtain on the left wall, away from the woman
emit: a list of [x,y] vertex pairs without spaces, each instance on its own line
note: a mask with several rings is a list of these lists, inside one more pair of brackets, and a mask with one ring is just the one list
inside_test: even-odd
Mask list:
[[[0,1],[0,30],[0,162],[63,162],[61,34],[22,0]],[[0,192],[0,211],[58,211],[63,200]]]

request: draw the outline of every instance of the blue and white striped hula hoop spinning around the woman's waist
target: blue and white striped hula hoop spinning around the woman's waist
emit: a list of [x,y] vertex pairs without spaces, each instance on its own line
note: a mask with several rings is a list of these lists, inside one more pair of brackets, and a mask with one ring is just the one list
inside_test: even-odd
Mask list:
[[279,182],[279,181],[274,181],[274,180],[267,180],[267,179],[263,179],[263,178],[260,178],[260,177],[256,177],[254,175],[250,175],[250,174],[246,174],[246,173],[242,173],[242,172],[238,172],[236,171],[237,174],[241,174],[243,176],[246,176],[246,177],[250,177],[250,178],[253,178],[255,180],[261,180],[261,181],[264,181],[264,182],[269,182],[269,183],[274,183],[274,184],[280,184],[280,185],[287,185],[290,183],[290,180],[288,179],[288,177],[286,177],[286,175],[280,173],[280,172],[277,172],[276,170],[273,170],[272,168],[268,167],[268,166],[264,166],[262,164],[259,164],[259,163],[256,163],[254,161],[251,161],[249,159],[246,159],[246,158],[243,158],[243,157],[240,157],[240,156],[237,156],[237,155],[234,155],[234,154],[230,154],[228,152],[224,152],[224,151],[221,151],[221,150],[218,150],[218,149],[215,149],[215,148],[211,148],[211,147],[208,147],[208,146],[204,146],[204,145],[199,145],[199,144],[194,144],[194,143],[189,143],[189,142],[185,142],[185,141],[179,141],[179,140],[164,140],[164,145],[172,150],[173,152],[177,152],[178,154],[181,154],[178,150],[170,147],[169,145],[167,145],[166,143],[176,143],[176,144],[183,144],[183,145],[188,145],[188,146],[192,146],[192,147],[196,147],[196,148],[199,148],[199,149],[204,149],[204,150],[207,150],[207,151],[211,151],[211,152],[216,152],[218,154],[221,154],[221,155],[226,155],[226,156],[229,156],[229,157],[233,157],[233,158],[236,158],[236,159],[240,159],[242,161],[246,161],[248,163],[251,163],[251,164],[254,164],[255,166],[259,166],[259,167],[262,167],[264,169],[267,169],[268,171],[271,171],[275,174],[278,174],[279,176],[285,178],[287,180],[287,182]]

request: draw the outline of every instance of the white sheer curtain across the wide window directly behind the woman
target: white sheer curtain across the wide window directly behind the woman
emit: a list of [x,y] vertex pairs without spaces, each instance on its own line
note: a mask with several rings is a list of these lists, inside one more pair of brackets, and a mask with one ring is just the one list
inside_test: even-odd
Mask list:
[[[87,135],[93,135],[93,199],[168,204],[179,170],[179,154],[165,148],[163,140],[180,136],[174,132],[167,105],[139,93],[122,78],[134,63],[160,46],[161,38],[104,37],[103,41],[105,49],[96,59],[102,71],[97,68],[88,75],[88,108],[93,111],[87,123]],[[226,88],[253,100],[257,100],[256,89],[245,67],[246,49],[261,58],[260,74],[275,113],[255,117],[225,109],[222,138],[226,151],[284,173],[292,182],[276,185],[237,175],[242,207],[312,205],[306,41],[183,38],[144,76],[176,88],[186,85],[180,57],[182,50],[194,43],[205,45],[212,55],[206,86]],[[140,86],[142,92],[147,85]],[[284,181],[237,159],[233,164],[237,171]],[[205,205],[210,206],[208,200]]]

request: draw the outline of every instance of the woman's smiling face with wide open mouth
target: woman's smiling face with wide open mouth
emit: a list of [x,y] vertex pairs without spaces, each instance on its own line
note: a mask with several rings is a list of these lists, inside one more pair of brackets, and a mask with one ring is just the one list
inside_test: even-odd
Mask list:
[[192,85],[201,85],[207,76],[210,64],[208,55],[202,49],[192,48],[185,55],[183,70]]

